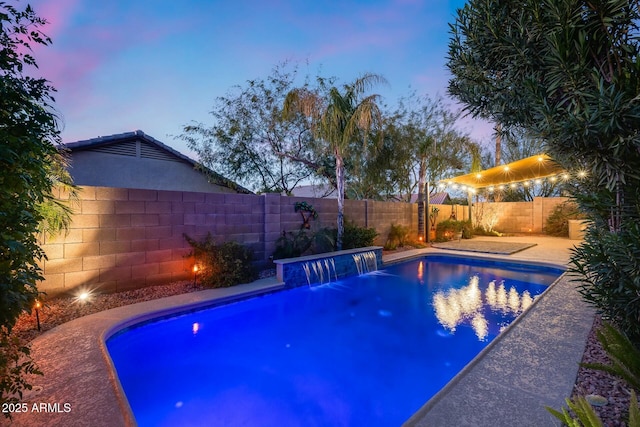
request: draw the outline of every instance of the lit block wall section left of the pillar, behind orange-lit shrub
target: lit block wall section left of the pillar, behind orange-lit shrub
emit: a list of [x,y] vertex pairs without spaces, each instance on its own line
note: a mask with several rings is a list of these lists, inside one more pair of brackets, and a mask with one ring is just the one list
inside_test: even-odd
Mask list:
[[[60,198],[65,199],[61,194]],[[264,258],[263,197],[83,187],[67,235],[44,242],[42,291],[113,292],[191,277],[184,234],[235,240]]]

